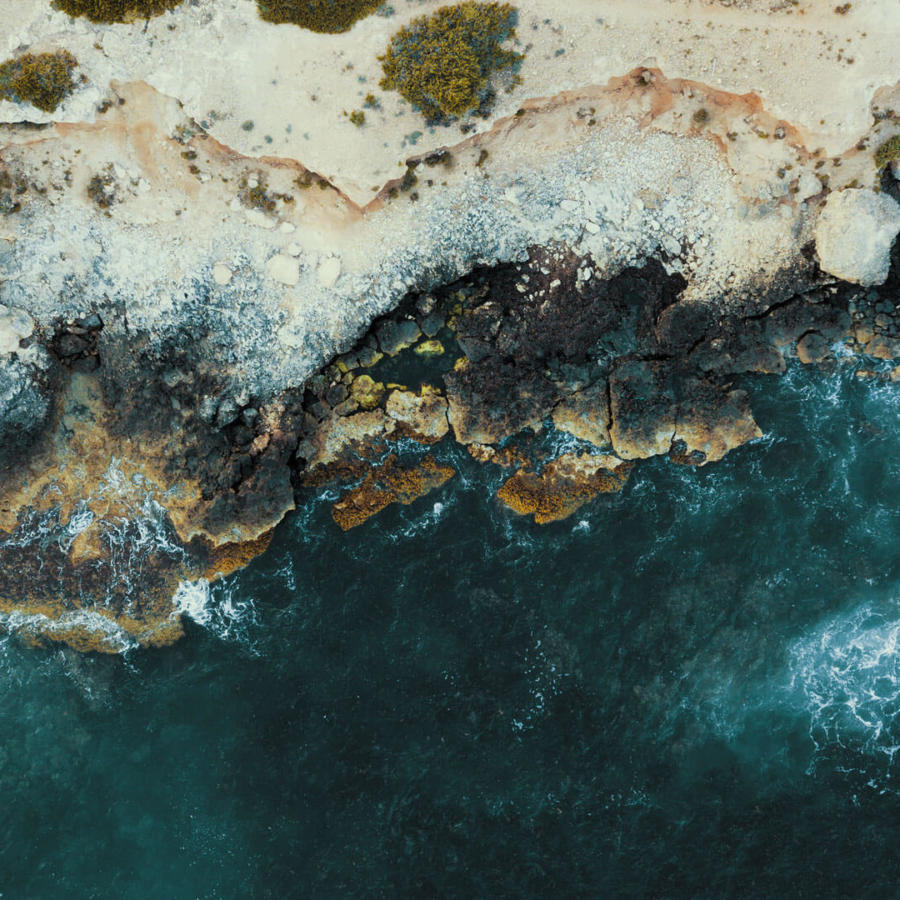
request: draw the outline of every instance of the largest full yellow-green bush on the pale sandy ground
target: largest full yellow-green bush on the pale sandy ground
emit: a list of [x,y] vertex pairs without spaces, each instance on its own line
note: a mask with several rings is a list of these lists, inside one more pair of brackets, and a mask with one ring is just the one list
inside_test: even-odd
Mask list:
[[474,0],[413,19],[380,57],[381,87],[399,91],[432,121],[483,107],[491,96],[491,76],[524,59],[501,46],[515,37],[515,23],[510,4]]

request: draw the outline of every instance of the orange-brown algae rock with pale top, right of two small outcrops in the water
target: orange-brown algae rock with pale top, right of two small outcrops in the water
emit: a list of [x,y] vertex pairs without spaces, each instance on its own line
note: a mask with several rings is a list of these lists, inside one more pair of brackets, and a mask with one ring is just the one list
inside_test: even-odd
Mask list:
[[557,522],[598,494],[620,491],[632,465],[611,454],[564,453],[540,475],[519,469],[503,483],[497,498],[519,515],[533,515],[538,525]]

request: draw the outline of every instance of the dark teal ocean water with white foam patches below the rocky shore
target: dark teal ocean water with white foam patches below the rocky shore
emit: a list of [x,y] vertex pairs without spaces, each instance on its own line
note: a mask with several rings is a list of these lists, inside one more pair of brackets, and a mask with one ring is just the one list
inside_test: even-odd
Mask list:
[[900,876],[900,386],[535,526],[311,497],[119,657],[0,638],[0,896],[868,897]]

